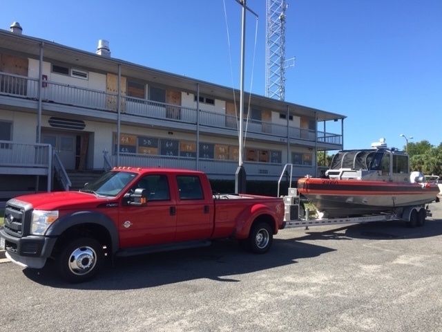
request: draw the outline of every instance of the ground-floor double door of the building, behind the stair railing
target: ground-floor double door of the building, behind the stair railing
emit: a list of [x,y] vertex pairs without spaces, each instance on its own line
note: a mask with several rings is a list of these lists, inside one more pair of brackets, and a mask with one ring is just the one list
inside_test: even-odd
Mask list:
[[65,169],[75,169],[77,136],[73,133],[44,133],[43,142],[52,145]]

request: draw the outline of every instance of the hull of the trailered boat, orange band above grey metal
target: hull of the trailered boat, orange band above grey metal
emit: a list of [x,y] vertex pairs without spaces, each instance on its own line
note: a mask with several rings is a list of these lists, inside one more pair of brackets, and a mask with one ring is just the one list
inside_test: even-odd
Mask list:
[[436,200],[437,185],[384,181],[301,178],[298,192],[329,217],[391,212]]

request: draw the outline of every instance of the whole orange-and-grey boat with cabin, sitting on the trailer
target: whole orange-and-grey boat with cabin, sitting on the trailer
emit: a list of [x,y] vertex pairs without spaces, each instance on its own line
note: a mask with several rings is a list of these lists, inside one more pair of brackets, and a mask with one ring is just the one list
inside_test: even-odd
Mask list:
[[329,217],[394,212],[437,201],[440,188],[409,168],[408,155],[381,140],[372,149],[339,151],[327,178],[300,178],[298,191]]

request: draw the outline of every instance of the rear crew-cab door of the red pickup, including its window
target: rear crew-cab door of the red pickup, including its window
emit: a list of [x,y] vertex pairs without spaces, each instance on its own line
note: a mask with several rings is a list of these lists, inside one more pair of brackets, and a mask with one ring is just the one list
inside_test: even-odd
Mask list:
[[177,233],[175,241],[208,239],[213,232],[213,199],[204,196],[200,177],[177,174]]

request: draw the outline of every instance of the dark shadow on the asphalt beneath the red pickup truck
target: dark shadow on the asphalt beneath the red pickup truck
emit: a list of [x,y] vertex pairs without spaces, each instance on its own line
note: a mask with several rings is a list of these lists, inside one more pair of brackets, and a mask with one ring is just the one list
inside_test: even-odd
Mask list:
[[317,257],[334,249],[300,243],[295,239],[273,239],[265,255],[244,252],[237,241],[218,240],[209,247],[160,252],[115,259],[90,282],[67,284],[48,261],[41,270],[26,268],[23,274],[33,282],[55,288],[86,290],[129,290],[211,279],[218,282],[242,282],[241,275],[296,264],[298,259]]

